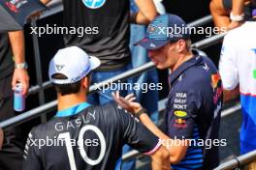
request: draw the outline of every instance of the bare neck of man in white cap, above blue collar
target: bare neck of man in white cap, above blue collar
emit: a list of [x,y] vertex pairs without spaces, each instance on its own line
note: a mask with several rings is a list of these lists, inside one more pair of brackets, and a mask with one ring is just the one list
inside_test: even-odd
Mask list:
[[85,101],[87,101],[87,97],[82,93],[65,96],[58,95],[58,111],[65,110]]

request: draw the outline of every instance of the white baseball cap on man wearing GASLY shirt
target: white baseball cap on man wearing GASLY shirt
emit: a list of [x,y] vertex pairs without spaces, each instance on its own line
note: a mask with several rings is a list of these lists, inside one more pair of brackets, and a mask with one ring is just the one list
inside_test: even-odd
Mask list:
[[[70,84],[79,81],[85,77],[90,71],[100,66],[101,62],[98,58],[88,56],[78,46],[71,46],[60,49],[49,62],[48,77],[55,84]],[[67,79],[55,79],[52,75],[62,73]]]

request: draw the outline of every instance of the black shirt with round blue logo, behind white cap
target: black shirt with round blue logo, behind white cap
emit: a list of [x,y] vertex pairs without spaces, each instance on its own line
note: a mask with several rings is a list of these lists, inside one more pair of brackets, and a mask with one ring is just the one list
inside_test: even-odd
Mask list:
[[[94,3],[96,2],[96,3]],[[129,0],[63,0],[64,26],[83,27],[87,34],[65,34],[66,45],[77,45],[101,60],[98,70],[124,67],[129,51]]]

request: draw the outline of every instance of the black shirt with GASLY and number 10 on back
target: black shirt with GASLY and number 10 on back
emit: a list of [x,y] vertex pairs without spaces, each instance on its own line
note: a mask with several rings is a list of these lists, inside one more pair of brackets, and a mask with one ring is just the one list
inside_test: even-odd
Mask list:
[[[120,159],[124,144],[142,153],[159,147],[158,138],[116,104],[85,109],[84,104],[70,108],[72,112],[81,108],[78,113],[69,114],[67,109],[68,114],[57,114],[47,124],[31,130],[23,170],[111,170]],[[63,145],[57,144],[58,138],[65,139]],[[49,139],[55,139],[55,144],[39,146],[39,140]]]

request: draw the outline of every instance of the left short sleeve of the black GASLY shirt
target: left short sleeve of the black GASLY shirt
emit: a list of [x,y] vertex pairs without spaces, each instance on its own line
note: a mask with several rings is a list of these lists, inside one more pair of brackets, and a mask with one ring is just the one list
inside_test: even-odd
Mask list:
[[43,169],[39,156],[38,142],[33,129],[28,134],[24,149],[22,170],[41,170]]

